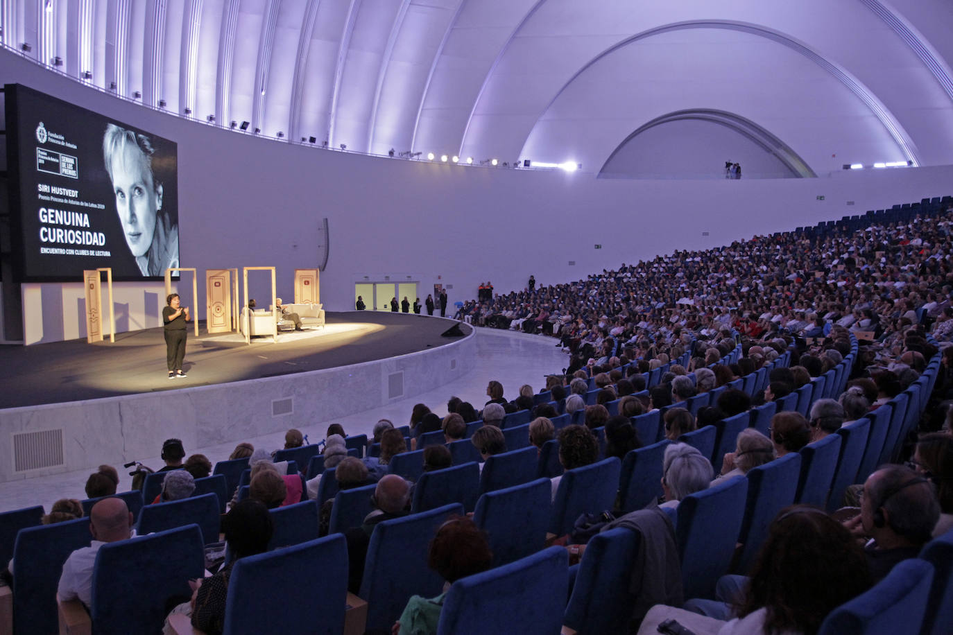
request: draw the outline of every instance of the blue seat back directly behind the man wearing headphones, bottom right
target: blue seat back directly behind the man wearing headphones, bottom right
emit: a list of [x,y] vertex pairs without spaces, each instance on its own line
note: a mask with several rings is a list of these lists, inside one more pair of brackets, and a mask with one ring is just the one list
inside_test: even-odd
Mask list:
[[818,635],[919,632],[932,582],[932,565],[904,560],[873,588],[832,610]]

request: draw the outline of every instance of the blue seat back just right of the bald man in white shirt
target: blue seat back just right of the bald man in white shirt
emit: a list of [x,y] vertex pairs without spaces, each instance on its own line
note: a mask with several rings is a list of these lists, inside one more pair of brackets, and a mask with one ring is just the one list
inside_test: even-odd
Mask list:
[[189,580],[205,574],[197,525],[99,547],[92,568],[90,616],[102,635],[161,633],[173,598],[189,597]]

